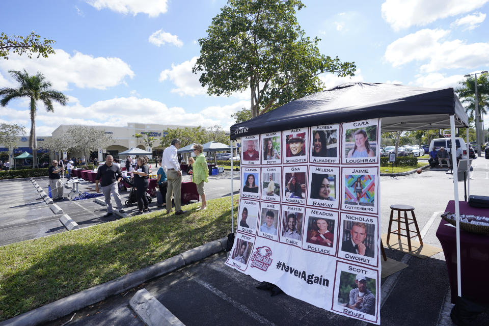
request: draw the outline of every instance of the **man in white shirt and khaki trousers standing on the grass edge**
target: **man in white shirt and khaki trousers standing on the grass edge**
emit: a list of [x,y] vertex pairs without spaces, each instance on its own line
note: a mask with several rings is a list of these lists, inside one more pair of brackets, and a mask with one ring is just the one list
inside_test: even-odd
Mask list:
[[181,143],[182,142],[180,142],[180,140],[177,138],[172,140],[170,147],[165,148],[165,150],[163,151],[163,155],[161,157],[161,167],[163,167],[163,169],[167,173],[167,181],[168,181],[167,197],[166,197],[167,213],[170,213],[172,211],[172,206],[171,204],[168,205],[168,203],[172,202],[172,195],[173,195],[173,200],[175,201],[176,215],[180,215],[184,213],[180,203],[180,191],[182,188],[182,172],[180,171],[180,164],[178,162],[178,156],[177,156],[177,151],[180,148]]

